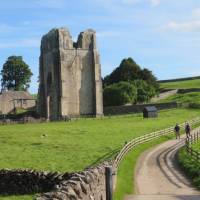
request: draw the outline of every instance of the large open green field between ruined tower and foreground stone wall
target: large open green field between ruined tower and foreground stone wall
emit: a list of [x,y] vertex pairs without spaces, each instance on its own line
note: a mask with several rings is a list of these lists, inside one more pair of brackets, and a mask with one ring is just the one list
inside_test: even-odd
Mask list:
[[199,110],[174,109],[160,112],[158,119],[149,120],[133,115],[70,123],[0,126],[0,168],[82,170],[111,155],[125,141],[199,114]]

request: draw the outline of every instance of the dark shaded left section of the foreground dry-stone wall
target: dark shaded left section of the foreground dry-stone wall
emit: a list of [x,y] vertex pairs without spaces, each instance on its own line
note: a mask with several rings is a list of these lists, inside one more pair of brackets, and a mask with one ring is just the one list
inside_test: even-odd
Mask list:
[[32,194],[53,190],[72,174],[34,170],[0,170],[0,194]]

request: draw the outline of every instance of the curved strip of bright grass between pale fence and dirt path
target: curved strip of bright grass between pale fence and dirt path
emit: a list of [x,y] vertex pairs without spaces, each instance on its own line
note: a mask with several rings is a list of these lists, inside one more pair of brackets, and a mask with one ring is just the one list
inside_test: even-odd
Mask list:
[[117,175],[117,187],[114,193],[114,200],[121,200],[125,195],[133,194],[135,192],[134,187],[134,172],[137,163],[137,159],[145,150],[150,149],[162,142],[171,139],[173,136],[163,136],[154,141],[141,144],[131,150],[121,162],[118,175]]

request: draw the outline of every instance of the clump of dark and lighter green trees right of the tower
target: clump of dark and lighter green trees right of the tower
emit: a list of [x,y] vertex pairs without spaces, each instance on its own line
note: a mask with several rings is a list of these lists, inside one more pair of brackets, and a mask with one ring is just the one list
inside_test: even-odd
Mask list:
[[105,106],[148,102],[159,88],[152,72],[141,69],[132,58],[123,59],[119,67],[103,79],[103,85]]

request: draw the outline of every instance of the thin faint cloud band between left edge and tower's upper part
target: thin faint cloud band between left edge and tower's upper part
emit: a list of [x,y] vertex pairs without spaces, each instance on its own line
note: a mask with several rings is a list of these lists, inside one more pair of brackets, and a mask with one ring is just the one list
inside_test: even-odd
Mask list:
[[9,42],[0,42],[0,49],[6,48],[23,48],[23,47],[39,47],[40,46],[40,39],[38,38],[27,38],[27,39],[20,39],[16,41],[9,41]]

